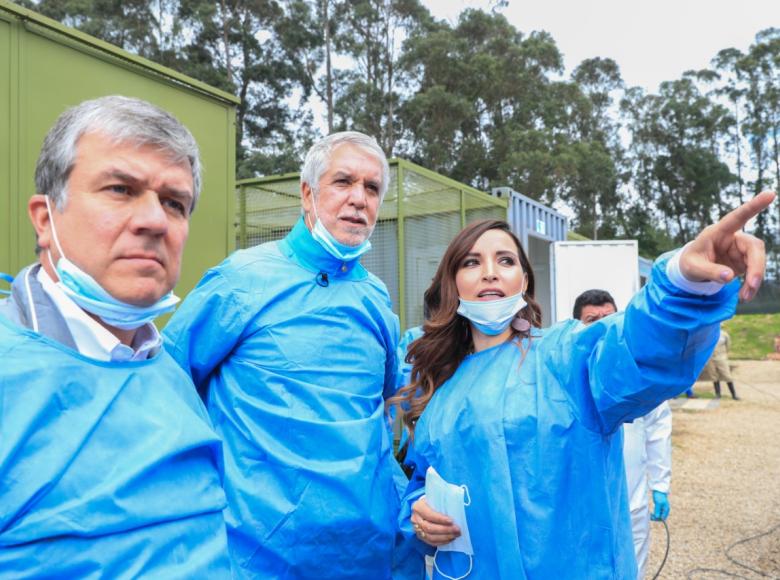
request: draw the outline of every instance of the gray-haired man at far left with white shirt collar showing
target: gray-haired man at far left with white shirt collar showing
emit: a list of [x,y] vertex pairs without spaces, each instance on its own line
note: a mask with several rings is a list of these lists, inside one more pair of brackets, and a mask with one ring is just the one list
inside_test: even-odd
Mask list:
[[198,147],[120,96],[65,111],[0,302],[0,570],[229,578],[221,447],[152,320],[173,309]]

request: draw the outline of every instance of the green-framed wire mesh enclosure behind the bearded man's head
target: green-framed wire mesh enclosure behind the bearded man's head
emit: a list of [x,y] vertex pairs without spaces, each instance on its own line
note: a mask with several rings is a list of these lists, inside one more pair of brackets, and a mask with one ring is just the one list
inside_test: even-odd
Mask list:
[[[238,184],[237,196],[238,248],[283,238],[301,214],[295,174],[244,180]],[[361,262],[387,286],[403,328],[422,323],[423,293],[455,234],[478,219],[506,219],[506,208],[505,200],[407,161],[391,161],[390,184],[371,236],[372,248]]]

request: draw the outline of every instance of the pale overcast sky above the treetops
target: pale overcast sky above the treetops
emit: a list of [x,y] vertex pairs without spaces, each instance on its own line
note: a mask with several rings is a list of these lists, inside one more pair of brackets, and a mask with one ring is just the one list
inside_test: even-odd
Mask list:
[[[486,0],[422,0],[438,18],[457,22]],[[546,30],[567,71],[586,58],[609,57],[629,86],[656,92],[665,80],[709,66],[723,49],[746,50],[756,33],[780,28],[780,0],[509,0],[501,12],[521,32]]]

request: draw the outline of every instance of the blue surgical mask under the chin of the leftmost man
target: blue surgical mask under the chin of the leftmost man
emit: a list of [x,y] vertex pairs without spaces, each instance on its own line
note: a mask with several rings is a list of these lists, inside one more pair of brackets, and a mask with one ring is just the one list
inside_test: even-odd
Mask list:
[[49,210],[52,237],[60,253],[60,259],[55,266],[51,259],[51,251],[46,250],[51,267],[59,276],[57,286],[65,294],[78,304],[82,309],[98,316],[106,324],[122,330],[133,330],[152,322],[155,318],[166,312],[171,312],[179,298],[169,292],[150,306],[135,306],[117,300],[98,284],[92,276],[79,268],[65,257],[60,241],[57,238],[57,230],[54,227],[54,215],[49,205],[49,196],[45,196],[46,208]]

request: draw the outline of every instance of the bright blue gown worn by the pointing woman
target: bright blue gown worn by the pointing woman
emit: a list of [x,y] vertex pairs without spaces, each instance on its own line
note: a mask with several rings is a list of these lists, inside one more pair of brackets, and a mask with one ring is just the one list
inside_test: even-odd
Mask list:
[[[624,313],[535,331],[525,358],[516,341],[466,357],[415,429],[407,535],[431,465],[468,487],[470,578],[636,577],[619,427],[696,379],[739,288],[692,296],[664,267]],[[469,562],[439,552],[437,564],[459,577]]]

